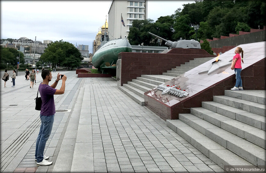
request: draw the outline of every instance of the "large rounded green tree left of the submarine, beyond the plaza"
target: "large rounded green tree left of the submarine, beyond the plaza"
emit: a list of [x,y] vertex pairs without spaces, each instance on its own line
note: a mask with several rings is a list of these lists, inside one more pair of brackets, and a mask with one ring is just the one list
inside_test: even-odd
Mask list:
[[[52,67],[65,66],[72,67],[69,60],[70,57],[75,57],[76,61],[81,63],[83,58],[77,48],[69,42],[60,40],[48,44],[44,53],[41,55],[41,60],[43,62],[52,63]],[[66,59],[68,59],[66,61]],[[76,66],[76,65],[75,65]],[[75,67],[73,66],[73,67]]]

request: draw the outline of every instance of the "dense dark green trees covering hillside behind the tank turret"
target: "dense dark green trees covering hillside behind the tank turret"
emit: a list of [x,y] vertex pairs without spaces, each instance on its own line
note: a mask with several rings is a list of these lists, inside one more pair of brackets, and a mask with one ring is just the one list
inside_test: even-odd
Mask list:
[[131,45],[142,42],[158,45],[158,39],[147,32],[171,41],[196,39],[193,27],[197,24],[200,26],[197,41],[238,34],[238,31],[248,32],[250,28],[262,29],[266,25],[265,8],[266,2],[262,0],[206,0],[183,4],[182,10],[179,8],[171,16],[161,16],[155,22],[133,20],[128,40]]

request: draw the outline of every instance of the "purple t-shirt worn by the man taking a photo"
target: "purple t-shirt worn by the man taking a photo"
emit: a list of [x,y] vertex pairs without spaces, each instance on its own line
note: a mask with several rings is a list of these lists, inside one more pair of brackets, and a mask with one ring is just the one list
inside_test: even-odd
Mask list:
[[45,116],[54,115],[54,93],[56,92],[56,89],[49,85],[40,83],[39,92],[42,98],[41,114]]

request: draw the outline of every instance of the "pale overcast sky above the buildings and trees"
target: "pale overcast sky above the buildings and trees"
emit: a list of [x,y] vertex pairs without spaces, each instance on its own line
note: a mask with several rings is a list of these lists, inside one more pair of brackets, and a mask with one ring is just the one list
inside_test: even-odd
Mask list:
[[[111,0],[108,1],[5,1],[1,0],[1,38],[68,41],[89,45],[105,23]],[[148,18],[172,15],[190,1],[148,1]],[[125,15],[126,16],[126,15]],[[126,18],[126,17],[124,17]],[[108,17],[107,17],[108,22]]]

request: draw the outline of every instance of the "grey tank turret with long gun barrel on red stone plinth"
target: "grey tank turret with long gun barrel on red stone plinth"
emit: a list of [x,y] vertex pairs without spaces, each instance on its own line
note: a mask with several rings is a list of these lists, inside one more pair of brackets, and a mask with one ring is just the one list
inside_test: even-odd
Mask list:
[[182,40],[180,39],[179,41],[170,41],[166,40],[164,38],[161,38],[153,33],[148,32],[149,34],[153,35],[154,37],[160,38],[161,40],[165,41],[165,45],[167,45],[170,49],[172,48],[184,48],[184,49],[201,49],[201,45],[198,41],[196,40]]

